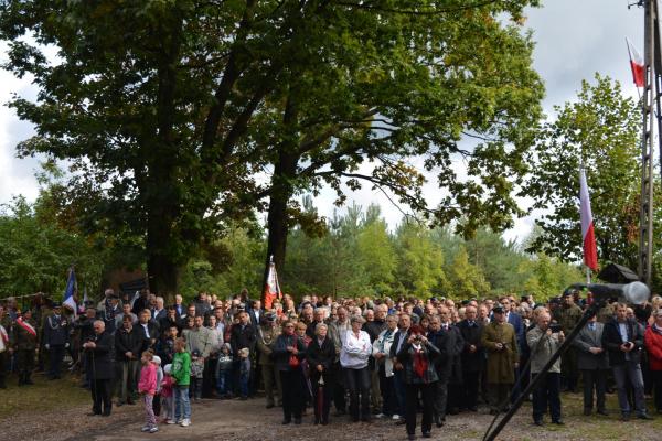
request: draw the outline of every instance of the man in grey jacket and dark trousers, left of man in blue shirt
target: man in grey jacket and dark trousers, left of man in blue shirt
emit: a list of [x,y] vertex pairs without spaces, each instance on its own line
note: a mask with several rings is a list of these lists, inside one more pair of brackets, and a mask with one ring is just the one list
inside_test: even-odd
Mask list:
[[605,391],[607,388],[607,370],[609,358],[602,347],[602,331],[605,324],[598,322],[598,316],[590,318],[579,332],[573,345],[577,348],[577,367],[584,378],[584,415],[592,412],[594,389],[598,413],[607,415],[605,408]]

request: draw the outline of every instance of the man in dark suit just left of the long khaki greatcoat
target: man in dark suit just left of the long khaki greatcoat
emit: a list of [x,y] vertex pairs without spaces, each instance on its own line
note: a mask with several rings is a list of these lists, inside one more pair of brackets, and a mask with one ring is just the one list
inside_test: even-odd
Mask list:
[[478,385],[481,370],[484,368],[484,351],[480,344],[483,325],[477,321],[476,306],[465,309],[465,320],[458,324],[465,347],[462,348],[462,406],[476,412],[478,410]]

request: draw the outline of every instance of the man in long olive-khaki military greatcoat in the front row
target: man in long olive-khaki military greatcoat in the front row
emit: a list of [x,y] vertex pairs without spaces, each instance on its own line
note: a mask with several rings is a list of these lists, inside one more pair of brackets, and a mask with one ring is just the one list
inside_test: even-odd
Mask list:
[[517,337],[512,324],[505,322],[505,311],[498,305],[493,310],[494,320],[488,324],[481,336],[481,344],[488,353],[488,394],[491,415],[496,415],[509,398],[515,383],[515,368],[519,367],[520,352]]

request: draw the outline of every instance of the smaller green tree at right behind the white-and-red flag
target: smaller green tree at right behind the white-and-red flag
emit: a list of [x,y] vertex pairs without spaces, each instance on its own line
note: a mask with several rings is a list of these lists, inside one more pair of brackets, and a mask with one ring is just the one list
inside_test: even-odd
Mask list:
[[[583,255],[579,168],[590,189],[598,258],[637,268],[641,112],[618,82],[596,74],[577,99],[555,107],[530,158],[524,194],[543,209],[531,251],[576,261]],[[659,205],[659,204],[655,204]],[[658,219],[662,218],[656,216]],[[662,226],[662,225],[661,225]]]

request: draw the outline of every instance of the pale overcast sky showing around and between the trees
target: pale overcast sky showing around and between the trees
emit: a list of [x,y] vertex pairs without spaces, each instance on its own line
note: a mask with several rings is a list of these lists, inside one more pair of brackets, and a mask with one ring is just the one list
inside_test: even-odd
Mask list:
[[[548,114],[552,106],[573,99],[581,79],[592,79],[595,72],[619,79],[626,93],[637,94],[624,39],[630,37],[643,53],[643,10],[637,7],[628,10],[629,2],[633,0],[543,0],[542,8],[528,11],[526,26],[534,31],[536,41],[534,67],[545,82],[544,107]],[[0,62],[7,57],[6,49],[0,43]],[[20,80],[0,71],[0,103],[7,103],[12,93],[23,97],[35,95],[30,79]],[[38,161],[15,158],[17,143],[32,133],[31,125],[19,121],[6,106],[0,107],[0,204],[12,195],[23,194],[33,200],[38,194],[34,180]],[[438,193],[434,182],[426,185],[425,194],[431,205],[438,201]],[[322,215],[333,213],[333,200],[330,191],[316,200]],[[402,217],[398,208],[376,191],[362,190],[350,197],[352,201],[362,206],[378,203],[392,226]],[[531,230],[532,222],[517,219],[505,236],[522,239]]]

